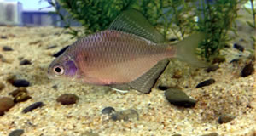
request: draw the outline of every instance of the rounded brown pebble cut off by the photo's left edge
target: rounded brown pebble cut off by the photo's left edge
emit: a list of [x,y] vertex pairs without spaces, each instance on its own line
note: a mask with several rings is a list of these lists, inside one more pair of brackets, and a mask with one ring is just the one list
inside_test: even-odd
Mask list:
[[9,111],[15,105],[14,100],[9,97],[0,98],[0,116],[3,116],[5,111]]

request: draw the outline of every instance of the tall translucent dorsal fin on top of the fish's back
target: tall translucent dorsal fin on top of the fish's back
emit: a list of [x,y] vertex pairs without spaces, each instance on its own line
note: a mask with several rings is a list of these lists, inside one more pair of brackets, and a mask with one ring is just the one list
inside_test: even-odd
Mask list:
[[113,20],[108,30],[125,31],[155,43],[165,42],[165,38],[150,25],[148,20],[135,9],[128,9]]

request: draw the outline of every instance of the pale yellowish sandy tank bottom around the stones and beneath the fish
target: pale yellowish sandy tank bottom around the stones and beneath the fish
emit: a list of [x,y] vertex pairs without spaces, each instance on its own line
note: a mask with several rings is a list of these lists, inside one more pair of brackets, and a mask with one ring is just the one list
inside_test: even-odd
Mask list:
[[[242,67],[247,63],[247,54],[238,63],[228,62],[236,58],[239,51],[226,49],[227,62],[221,63],[217,71],[207,73],[204,69],[193,68],[173,60],[158,84],[181,88],[197,103],[194,108],[171,105],[164,91],[152,89],[150,94],[131,90],[126,94],[110,88],[94,87],[75,82],[49,80],[46,76],[49,63],[55,59],[52,54],[74,42],[61,28],[53,27],[0,27],[0,48],[7,45],[14,51],[4,52],[7,62],[0,61],[0,82],[5,88],[0,96],[8,96],[15,90],[6,82],[9,75],[15,75],[31,82],[27,88],[32,99],[16,104],[4,116],[0,116],[0,136],[6,136],[15,129],[24,129],[22,136],[79,136],[85,132],[99,135],[256,135],[256,91],[255,76],[241,77]],[[46,49],[51,45],[56,48]],[[239,53],[241,54],[241,53]],[[32,65],[19,65],[20,58],[29,59]],[[254,64],[254,69],[256,69]],[[172,78],[181,73],[180,78]],[[209,78],[215,83],[204,87],[195,86]],[[52,88],[54,85],[57,88]],[[254,86],[253,86],[254,85]],[[75,105],[61,105],[55,99],[61,94],[76,94],[79,102]],[[45,106],[26,114],[21,111],[34,102],[42,101]],[[102,109],[112,106],[116,111],[135,109],[138,121],[114,122],[109,116],[102,115]],[[218,116],[236,116],[231,122],[219,124]],[[84,134],[85,135],[85,134]]]

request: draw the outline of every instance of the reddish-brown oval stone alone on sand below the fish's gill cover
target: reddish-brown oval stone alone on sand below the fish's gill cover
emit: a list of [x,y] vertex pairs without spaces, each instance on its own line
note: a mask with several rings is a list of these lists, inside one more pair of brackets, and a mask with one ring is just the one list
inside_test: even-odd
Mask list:
[[62,105],[72,105],[79,100],[79,97],[75,94],[62,94],[56,100],[57,102],[60,102]]

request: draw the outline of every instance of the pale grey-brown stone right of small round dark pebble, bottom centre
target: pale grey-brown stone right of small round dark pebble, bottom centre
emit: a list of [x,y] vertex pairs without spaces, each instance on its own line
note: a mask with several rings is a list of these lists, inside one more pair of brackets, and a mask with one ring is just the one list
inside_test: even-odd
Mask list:
[[137,113],[136,110],[133,109],[128,109],[125,111],[119,111],[116,112],[111,119],[113,119],[113,121],[120,121],[120,120],[124,120],[124,121],[133,121],[133,120],[139,120],[139,115]]

